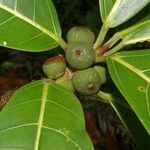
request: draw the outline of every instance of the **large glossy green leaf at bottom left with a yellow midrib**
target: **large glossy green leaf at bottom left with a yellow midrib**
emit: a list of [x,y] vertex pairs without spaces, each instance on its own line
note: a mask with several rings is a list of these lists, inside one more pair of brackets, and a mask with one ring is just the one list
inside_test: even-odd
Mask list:
[[92,150],[81,105],[49,80],[19,89],[0,113],[1,150]]

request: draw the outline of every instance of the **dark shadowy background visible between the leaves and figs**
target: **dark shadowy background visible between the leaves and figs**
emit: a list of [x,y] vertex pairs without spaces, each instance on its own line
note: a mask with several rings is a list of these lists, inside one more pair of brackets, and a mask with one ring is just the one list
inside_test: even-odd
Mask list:
[[[98,0],[55,0],[62,36],[66,40],[67,31],[75,26],[88,26],[98,35],[102,22],[100,19]],[[115,32],[120,31],[140,21],[149,13],[149,6],[144,8],[130,21],[123,25],[110,29],[106,39]],[[129,45],[124,50],[147,49],[148,42]],[[11,94],[20,86],[32,80],[41,79],[42,63],[48,57],[63,53],[58,47],[47,52],[29,53],[0,47],[0,95],[8,101]],[[105,64],[102,64],[106,66]],[[109,86],[108,86],[109,85]],[[103,89],[117,91],[108,74],[108,81]],[[87,97],[86,100],[79,96],[85,111],[87,130],[97,150],[133,150],[136,146],[131,135],[122,125],[113,109],[105,101],[97,100],[97,97]],[[1,103],[0,103],[1,105]]]

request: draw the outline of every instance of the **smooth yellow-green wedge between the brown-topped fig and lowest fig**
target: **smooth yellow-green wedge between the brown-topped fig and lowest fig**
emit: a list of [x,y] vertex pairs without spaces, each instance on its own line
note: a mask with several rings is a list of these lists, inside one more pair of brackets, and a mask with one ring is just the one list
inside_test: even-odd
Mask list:
[[66,76],[62,76],[56,80],[56,83],[65,87],[69,91],[74,92],[72,80],[70,78],[68,78]]

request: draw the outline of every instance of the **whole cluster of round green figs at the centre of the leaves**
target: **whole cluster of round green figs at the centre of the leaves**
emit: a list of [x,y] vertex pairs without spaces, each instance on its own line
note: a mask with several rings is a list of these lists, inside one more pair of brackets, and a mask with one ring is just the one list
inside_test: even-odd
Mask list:
[[87,27],[71,28],[67,34],[65,56],[56,55],[47,59],[43,63],[43,72],[72,92],[96,94],[101,84],[106,82],[106,70],[95,65],[94,40],[94,33]]

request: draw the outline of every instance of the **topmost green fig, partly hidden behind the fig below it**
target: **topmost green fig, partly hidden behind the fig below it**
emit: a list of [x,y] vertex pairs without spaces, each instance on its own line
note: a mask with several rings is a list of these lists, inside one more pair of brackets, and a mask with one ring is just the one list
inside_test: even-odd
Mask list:
[[73,27],[68,31],[67,34],[68,43],[70,42],[86,42],[93,44],[95,40],[94,33],[87,27]]

